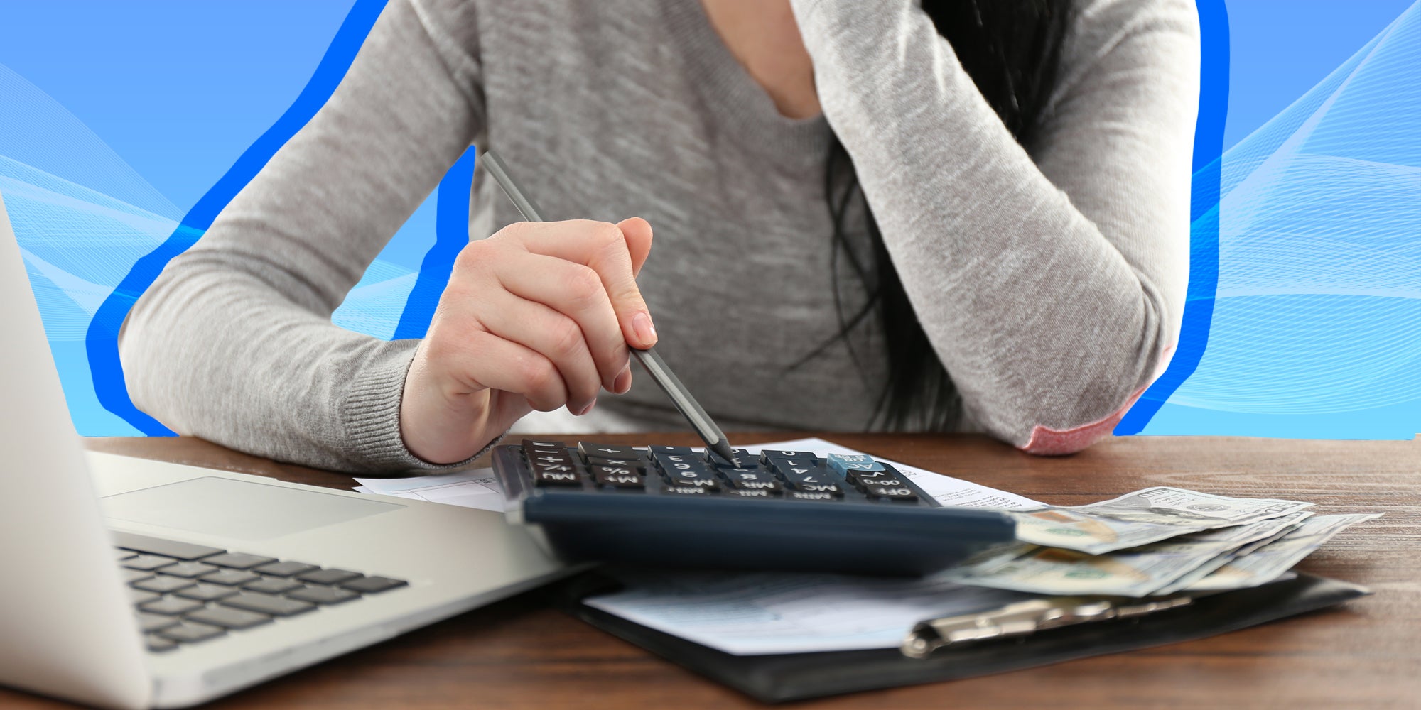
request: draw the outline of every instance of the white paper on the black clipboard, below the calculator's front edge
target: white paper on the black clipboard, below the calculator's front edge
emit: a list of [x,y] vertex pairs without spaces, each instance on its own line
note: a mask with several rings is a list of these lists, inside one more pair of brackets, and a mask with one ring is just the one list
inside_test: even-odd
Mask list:
[[[800,449],[804,450],[804,449]],[[791,572],[654,572],[585,604],[737,656],[892,649],[914,623],[1036,595],[941,578]]]

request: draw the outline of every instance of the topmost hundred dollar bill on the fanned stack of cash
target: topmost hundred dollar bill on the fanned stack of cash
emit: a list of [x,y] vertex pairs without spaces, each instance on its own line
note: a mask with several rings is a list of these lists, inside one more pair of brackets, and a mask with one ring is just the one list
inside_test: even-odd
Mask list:
[[1290,515],[1312,503],[1232,498],[1157,486],[1088,506],[1013,513],[1016,538],[1098,555],[1260,520]]

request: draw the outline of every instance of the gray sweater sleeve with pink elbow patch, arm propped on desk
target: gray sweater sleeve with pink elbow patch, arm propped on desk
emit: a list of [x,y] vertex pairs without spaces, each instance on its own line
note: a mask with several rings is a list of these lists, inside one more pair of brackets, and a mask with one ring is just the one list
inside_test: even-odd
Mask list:
[[1030,155],[914,0],[793,6],[824,115],[966,415],[1032,453],[1110,433],[1179,332],[1192,3],[1077,3]]

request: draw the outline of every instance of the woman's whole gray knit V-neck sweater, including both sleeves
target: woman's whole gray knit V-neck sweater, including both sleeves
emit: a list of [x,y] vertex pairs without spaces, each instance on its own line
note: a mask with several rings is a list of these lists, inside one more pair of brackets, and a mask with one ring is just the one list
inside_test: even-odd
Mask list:
[[[549,219],[652,224],[639,284],[658,351],[723,427],[861,430],[887,376],[874,324],[790,368],[838,329],[823,192],[837,135],[962,427],[1039,453],[1108,433],[1184,308],[1192,3],[1079,0],[1030,151],[912,0],[793,4],[821,118],[779,115],[698,0],[391,0],[325,108],[134,307],[135,403],[281,460],[431,467],[399,436],[418,341],[330,314],[475,143]],[[477,176],[470,237],[517,219]],[[840,275],[853,308],[863,290]],[[685,427],[641,373],[591,416]]]

